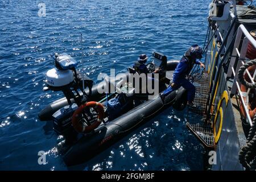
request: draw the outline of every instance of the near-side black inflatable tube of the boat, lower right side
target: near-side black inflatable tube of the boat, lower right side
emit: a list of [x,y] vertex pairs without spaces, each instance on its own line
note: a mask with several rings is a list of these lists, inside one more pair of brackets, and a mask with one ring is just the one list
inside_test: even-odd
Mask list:
[[65,153],[65,164],[74,166],[86,162],[166,107],[187,102],[186,96],[186,90],[181,87],[166,97],[158,96],[154,100],[148,100],[113,121],[105,123],[98,130],[82,137]]

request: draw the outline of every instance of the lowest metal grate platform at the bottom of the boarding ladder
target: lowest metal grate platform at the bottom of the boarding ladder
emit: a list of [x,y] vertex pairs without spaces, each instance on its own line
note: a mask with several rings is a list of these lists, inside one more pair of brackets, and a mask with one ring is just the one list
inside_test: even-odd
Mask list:
[[205,147],[214,148],[213,130],[209,124],[200,125],[199,123],[191,124],[187,122],[186,126]]

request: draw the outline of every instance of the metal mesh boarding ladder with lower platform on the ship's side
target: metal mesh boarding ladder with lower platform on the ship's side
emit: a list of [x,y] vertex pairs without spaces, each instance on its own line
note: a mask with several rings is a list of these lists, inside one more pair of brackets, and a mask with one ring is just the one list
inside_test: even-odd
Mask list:
[[[196,66],[197,67],[197,66]],[[207,119],[207,99],[209,93],[209,76],[208,71],[204,69],[197,69],[197,71],[191,73],[191,81],[196,87],[195,104],[199,106],[197,109],[191,110],[193,113],[200,115],[202,117],[200,123],[198,118],[188,117],[186,126],[191,131],[193,135],[203,144],[206,148],[214,148],[214,135],[213,128],[210,123],[206,121]]]

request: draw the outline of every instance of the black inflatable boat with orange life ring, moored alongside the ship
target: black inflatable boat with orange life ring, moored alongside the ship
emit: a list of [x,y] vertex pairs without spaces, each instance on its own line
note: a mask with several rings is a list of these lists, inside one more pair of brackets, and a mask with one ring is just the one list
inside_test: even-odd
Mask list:
[[[187,104],[184,88],[164,92],[179,61],[167,61],[167,57],[159,52],[154,52],[153,57],[152,63],[147,64],[148,71],[163,71],[159,78],[154,78],[157,75],[151,75],[152,79],[150,75],[146,77],[147,84],[151,79],[154,80],[152,86],[158,86],[154,96],[137,93],[136,90],[141,91],[141,87],[134,86],[136,81],[127,82],[131,75],[138,75],[135,69],[129,68],[129,72],[116,76],[114,80],[104,78],[104,81],[93,85],[89,78],[79,76],[75,69],[77,62],[72,57],[65,53],[55,54],[56,68],[47,71],[47,87],[44,90],[61,90],[65,97],[47,105],[39,113],[39,119],[53,121],[53,129],[63,135],[64,140],[58,147],[67,166],[92,158],[168,106],[184,109]],[[84,85],[88,87],[85,89]],[[115,92],[109,93],[109,86],[114,86]]]

